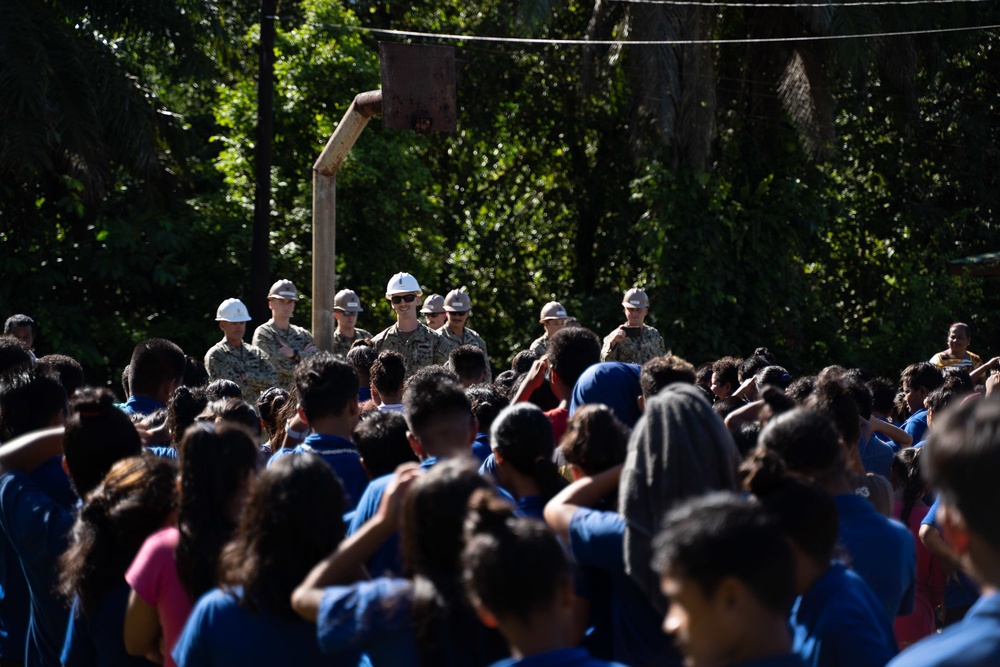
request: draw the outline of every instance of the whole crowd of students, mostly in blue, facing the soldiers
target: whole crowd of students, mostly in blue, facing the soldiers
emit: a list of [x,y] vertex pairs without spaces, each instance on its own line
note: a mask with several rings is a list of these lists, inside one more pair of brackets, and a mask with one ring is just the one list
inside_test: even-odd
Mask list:
[[0,667],[1000,665],[997,376],[379,359],[250,406],[149,339],[118,404],[0,338]]

